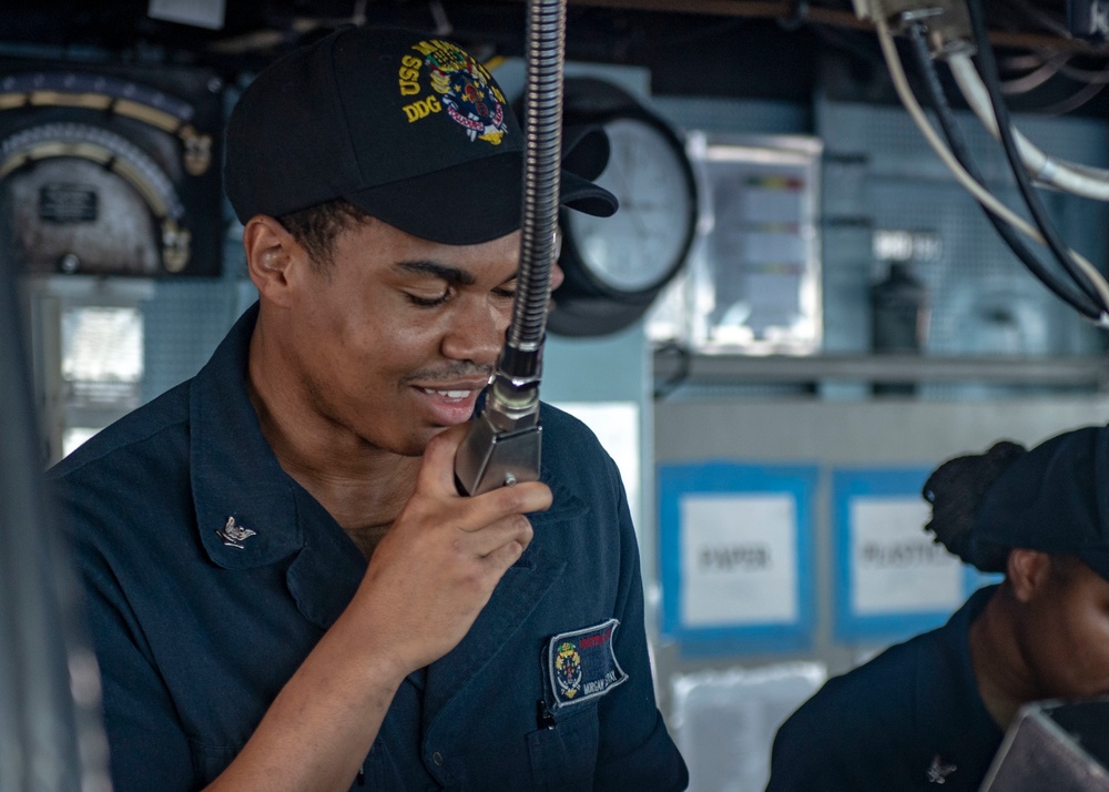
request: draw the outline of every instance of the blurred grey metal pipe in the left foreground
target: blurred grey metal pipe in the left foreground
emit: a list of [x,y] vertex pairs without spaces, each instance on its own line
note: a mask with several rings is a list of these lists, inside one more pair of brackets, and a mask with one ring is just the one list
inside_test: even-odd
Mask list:
[[43,496],[17,295],[0,255],[0,792],[104,792],[100,676]]

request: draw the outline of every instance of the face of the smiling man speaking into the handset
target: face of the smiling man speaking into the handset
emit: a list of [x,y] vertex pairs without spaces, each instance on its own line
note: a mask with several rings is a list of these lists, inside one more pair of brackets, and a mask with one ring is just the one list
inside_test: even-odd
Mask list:
[[519,245],[519,232],[444,245],[379,221],[343,232],[297,317],[315,409],[404,455],[469,419],[511,318]]

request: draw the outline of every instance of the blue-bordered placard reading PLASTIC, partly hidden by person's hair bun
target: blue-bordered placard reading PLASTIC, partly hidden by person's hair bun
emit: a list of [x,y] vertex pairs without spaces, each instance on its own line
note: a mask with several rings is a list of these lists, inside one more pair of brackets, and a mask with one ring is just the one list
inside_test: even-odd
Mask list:
[[947,621],[986,581],[924,530],[930,469],[832,473],[835,636],[897,640]]

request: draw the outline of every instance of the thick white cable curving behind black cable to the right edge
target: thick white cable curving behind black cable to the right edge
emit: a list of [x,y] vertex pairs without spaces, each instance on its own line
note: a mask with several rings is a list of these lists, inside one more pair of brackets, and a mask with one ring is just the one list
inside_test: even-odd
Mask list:
[[[989,133],[998,138],[989,92],[986,91],[986,85],[970,57],[966,53],[949,54],[947,64],[967,104]],[[1017,142],[1020,160],[1035,179],[1076,195],[1109,201],[1109,171],[1052,159],[1037,149],[1016,128],[1013,130],[1013,138]]]

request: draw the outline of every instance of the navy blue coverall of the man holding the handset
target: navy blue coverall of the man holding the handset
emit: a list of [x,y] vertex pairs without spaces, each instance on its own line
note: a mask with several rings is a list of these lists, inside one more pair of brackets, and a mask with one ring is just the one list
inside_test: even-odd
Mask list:
[[[256,312],[196,377],[50,475],[88,588],[116,792],[215,778],[366,570],[262,435]],[[354,789],[685,788],[617,468],[572,417],[545,406],[542,423],[553,507],[529,516],[531,545],[461,643],[401,684]]]

